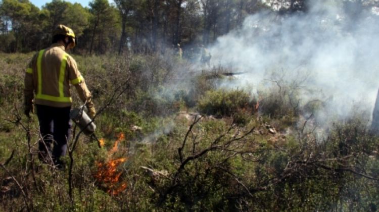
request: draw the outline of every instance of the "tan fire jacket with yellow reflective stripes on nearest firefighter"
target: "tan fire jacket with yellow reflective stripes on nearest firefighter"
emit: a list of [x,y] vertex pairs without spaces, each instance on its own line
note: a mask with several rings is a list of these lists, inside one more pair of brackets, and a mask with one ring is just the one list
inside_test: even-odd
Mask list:
[[54,43],[37,52],[29,63],[25,74],[25,104],[30,104],[35,98],[35,104],[70,107],[70,83],[75,86],[83,102],[92,104],[91,93],[75,60],[66,53],[63,45]]

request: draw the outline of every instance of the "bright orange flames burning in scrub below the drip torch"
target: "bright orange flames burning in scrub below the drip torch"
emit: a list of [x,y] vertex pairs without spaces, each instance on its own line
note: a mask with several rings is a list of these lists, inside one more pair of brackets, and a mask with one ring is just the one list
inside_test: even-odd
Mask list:
[[[120,141],[124,140],[124,134],[120,133],[117,136],[117,140],[113,145],[113,148],[108,151],[108,157],[111,157],[118,150],[118,144]],[[103,142],[102,142],[103,141]],[[104,139],[100,139],[100,144],[104,145]],[[107,192],[111,195],[117,195],[118,193],[124,191],[126,189],[126,183],[121,183],[118,185],[120,176],[122,172],[117,171],[117,167],[126,161],[126,158],[118,158],[111,160],[108,158],[108,162],[105,163],[97,163],[98,172],[94,175],[98,179],[99,182],[107,189]]]

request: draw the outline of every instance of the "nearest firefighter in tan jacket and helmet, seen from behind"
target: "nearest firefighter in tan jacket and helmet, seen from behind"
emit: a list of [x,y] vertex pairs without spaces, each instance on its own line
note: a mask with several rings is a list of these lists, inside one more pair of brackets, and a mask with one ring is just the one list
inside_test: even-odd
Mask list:
[[58,168],[63,168],[60,157],[66,154],[71,127],[70,83],[85,102],[88,116],[93,118],[96,115],[84,78],[75,60],[67,54],[75,43],[72,29],[58,25],[53,32],[52,45],[33,56],[25,74],[24,114],[30,118],[35,105],[42,138],[38,142],[38,157]]

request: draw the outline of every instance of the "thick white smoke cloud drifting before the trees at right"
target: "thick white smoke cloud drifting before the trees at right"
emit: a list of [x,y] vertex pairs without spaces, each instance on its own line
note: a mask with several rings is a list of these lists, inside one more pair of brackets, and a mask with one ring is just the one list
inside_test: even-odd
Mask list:
[[[306,13],[264,11],[247,17],[241,29],[209,48],[212,65],[246,72],[234,85],[238,87],[257,87],[271,71],[283,70],[287,80],[308,75],[303,85],[322,91],[337,115],[346,117],[357,103],[372,111],[379,87],[376,9],[360,11],[344,7],[343,1],[309,2]],[[320,94],[307,93],[303,99]]]

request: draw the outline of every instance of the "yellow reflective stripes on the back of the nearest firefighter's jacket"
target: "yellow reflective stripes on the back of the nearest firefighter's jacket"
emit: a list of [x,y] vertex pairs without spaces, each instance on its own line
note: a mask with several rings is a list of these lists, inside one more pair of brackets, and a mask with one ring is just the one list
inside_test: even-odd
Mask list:
[[40,50],[38,54],[37,59],[37,72],[38,72],[38,91],[36,98],[39,99],[45,99],[50,101],[59,101],[59,102],[71,102],[71,97],[64,97],[63,95],[63,82],[65,78],[65,69],[67,64],[67,54],[63,56],[61,67],[59,70],[59,81],[58,81],[58,87],[59,87],[59,96],[51,96],[51,95],[45,95],[42,94],[42,67],[41,67],[41,61],[42,61],[42,55],[45,50]]

